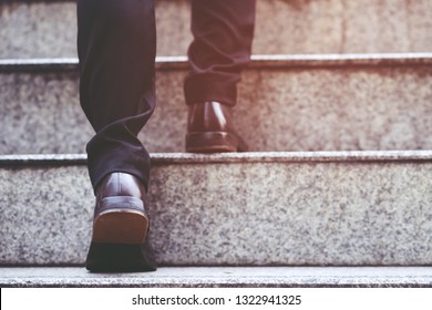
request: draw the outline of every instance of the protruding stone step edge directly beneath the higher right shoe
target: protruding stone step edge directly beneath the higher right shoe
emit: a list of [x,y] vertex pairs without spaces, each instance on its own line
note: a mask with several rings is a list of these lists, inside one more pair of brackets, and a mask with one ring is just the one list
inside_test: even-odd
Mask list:
[[[250,152],[220,154],[152,153],[152,165],[238,163],[432,162],[432,151]],[[0,155],[0,167],[85,165],[85,154]]]

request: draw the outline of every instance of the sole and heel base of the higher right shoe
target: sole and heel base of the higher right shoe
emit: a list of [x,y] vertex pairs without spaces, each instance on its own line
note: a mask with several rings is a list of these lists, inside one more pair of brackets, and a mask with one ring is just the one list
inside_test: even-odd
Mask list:
[[226,132],[187,133],[188,153],[229,153],[246,152],[246,145],[235,135]]

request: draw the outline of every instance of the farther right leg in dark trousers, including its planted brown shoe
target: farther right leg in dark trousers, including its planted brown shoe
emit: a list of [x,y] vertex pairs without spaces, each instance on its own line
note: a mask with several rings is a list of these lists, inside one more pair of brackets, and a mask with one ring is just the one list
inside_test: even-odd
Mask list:
[[236,104],[241,69],[249,62],[255,0],[192,0],[191,73],[185,80],[189,106],[186,151],[246,151],[230,107]]

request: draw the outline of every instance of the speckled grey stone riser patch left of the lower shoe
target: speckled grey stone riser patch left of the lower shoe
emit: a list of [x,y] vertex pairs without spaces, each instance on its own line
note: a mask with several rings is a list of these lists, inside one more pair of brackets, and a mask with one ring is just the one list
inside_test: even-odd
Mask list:
[[93,190],[83,166],[0,172],[2,264],[82,264]]

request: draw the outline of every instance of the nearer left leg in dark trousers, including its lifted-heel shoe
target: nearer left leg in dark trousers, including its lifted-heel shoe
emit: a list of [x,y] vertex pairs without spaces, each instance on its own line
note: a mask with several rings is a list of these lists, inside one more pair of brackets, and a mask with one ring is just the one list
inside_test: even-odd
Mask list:
[[79,0],[78,25],[81,105],[96,132],[86,147],[96,195],[88,268],[154,269],[141,247],[150,156],[137,138],[155,106],[153,0]]

